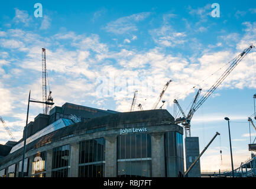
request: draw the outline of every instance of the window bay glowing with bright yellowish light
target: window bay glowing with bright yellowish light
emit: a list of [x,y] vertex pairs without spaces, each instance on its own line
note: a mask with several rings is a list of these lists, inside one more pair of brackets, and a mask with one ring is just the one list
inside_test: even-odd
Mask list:
[[32,177],[46,177],[46,151],[33,156]]

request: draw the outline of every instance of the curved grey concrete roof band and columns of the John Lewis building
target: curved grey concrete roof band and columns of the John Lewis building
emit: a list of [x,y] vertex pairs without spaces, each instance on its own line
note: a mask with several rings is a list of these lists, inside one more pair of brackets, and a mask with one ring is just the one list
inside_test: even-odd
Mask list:
[[[109,118],[111,117],[111,118]],[[158,118],[159,117],[159,118]],[[148,110],[141,112],[117,113],[102,118],[94,118],[88,122],[73,125],[54,131],[27,146],[25,157],[30,158],[29,174],[31,177],[33,156],[46,151],[46,177],[51,177],[53,148],[70,145],[69,177],[79,176],[79,142],[96,138],[105,139],[105,177],[117,176],[117,138],[121,129],[133,128],[134,123],[147,123],[147,131],[151,136],[151,167],[152,177],[166,177],[165,135],[166,132],[179,132],[183,128],[174,124],[174,118],[167,110]],[[129,125],[131,123],[131,125]],[[128,125],[127,125],[128,124]],[[138,127],[138,126],[137,126]],[[105,128],[103,131],[97,129]],[[140,127],[138,127],[140,128]],[[68,136],[68,137],[67,137]],[[47,141],[47,142],[46,142]],[[197,140],[198,142],[198,140]],[[17,163],[22,158],[22,149],[9,154],[0,161],[0,170]],[[199,165],[200,166],[200,165]],[[18,167],[17,169],[18,170]],[[200,168],[199,168],[200,170]]]

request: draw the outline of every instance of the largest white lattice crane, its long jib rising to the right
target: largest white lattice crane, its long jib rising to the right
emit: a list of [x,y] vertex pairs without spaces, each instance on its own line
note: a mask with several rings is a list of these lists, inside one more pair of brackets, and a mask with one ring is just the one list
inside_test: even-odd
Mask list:
[[238,56],[236,56],[233,59],[232,63],[229,65],[228,69],[226,69],[224,71],[224,73],[213,84],[213,86],[210,87],[210,89],[200,98],[200,100],[197,101],[197,99],[199,98],[199,94],[200,94],[202,89],[198,90],[198,92],[197,92],[197,94],[195,96],[195,99],[193,100],[192,106],[191,106],[187,116],[184,114],[184,112],[182,110],[182,107],[180,107],[178,101],[176,99],[174,100],[174,103],[176,103],[176,105],[180,109],[180,112],[182,112],[182,115],[183,115],[183,118],[176,119],[176,124],[182,123],[182,125],[184,126],[184,129],[185,129],[185,132],[186,132],[186,137],[190,137],[191,136],[190,121],[191,121],[194,113],[196,112],[196,110],[199,109],[200,106],[202,106],[202,104],[205,102],[205,100],[208,99],[208,97],[217,89],[217,87],[223,82],[223,80],[225,80],[226,77],[228,77],[228,75],[231,73],[231,71],[235,69],[235,67],[249,53],[249,51],[251,51],[252,48],[254,48],[253,44],[249,45],[248,48],[246,48],[244,51],[242,51],[242,53],[240,53]]

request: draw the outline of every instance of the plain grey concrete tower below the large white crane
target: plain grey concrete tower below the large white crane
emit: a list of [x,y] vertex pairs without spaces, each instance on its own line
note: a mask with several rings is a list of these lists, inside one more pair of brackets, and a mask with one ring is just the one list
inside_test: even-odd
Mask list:
[[[199,138],[186,137],[185,138],[185,154],[186,154],[186,169],[199,157]],[[201,177],[200,159],[194,165],[192,170],[187,174],[187,177]]]

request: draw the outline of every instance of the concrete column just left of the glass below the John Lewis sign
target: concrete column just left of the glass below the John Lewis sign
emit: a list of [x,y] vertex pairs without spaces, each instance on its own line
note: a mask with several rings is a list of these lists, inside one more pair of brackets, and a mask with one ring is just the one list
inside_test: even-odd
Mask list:
[[105,154],[105,177],[116,177],[116,136],[105,136],[106,154]]

